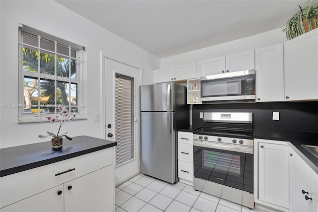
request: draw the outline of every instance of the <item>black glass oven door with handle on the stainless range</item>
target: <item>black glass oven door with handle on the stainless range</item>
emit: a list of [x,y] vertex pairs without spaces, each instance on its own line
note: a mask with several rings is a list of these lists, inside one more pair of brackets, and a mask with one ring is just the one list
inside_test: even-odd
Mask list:
[[218,144],[193,142],[194,177],[253,193],[253,147]]

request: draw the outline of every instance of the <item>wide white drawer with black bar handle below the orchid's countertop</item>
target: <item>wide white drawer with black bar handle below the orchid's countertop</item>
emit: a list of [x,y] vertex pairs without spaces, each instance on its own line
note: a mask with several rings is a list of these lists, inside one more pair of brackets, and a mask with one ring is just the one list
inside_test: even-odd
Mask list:
[[[0,178],[0,208],[113,163],[113,147]],[[55,176],[57,173],[74,169]]]

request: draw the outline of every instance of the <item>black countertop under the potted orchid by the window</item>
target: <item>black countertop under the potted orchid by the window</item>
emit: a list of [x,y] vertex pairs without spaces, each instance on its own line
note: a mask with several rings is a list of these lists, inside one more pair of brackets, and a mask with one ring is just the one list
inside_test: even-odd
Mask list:
[[117,142],[88,136],[63,139],[60,150],[52,150],[51,141],[0,149],[0,177],[48,165],[90,152],[116,146]]

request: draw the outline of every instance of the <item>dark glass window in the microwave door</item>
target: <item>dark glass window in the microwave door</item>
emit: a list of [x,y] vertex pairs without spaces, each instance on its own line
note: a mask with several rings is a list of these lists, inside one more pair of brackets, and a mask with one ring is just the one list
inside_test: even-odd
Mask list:
[[244,95],[244,78],[202,81],[202,97]]

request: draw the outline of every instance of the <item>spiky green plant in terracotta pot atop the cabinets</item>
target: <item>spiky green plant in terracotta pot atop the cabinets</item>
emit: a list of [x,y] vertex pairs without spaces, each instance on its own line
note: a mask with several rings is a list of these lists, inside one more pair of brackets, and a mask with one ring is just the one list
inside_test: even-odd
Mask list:
[[297,36],[318,27],[318,5],[311,4],[312,0],[309,0],[304,9],[298,5],[300,11],[287,21],[286,27],[282,31],[286,32],[288,40],[296,38]]

